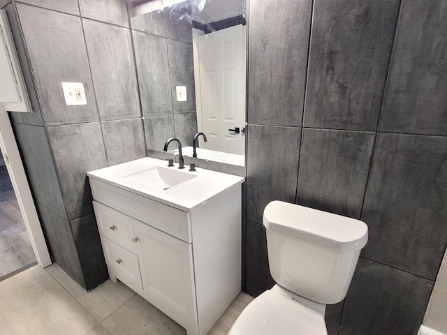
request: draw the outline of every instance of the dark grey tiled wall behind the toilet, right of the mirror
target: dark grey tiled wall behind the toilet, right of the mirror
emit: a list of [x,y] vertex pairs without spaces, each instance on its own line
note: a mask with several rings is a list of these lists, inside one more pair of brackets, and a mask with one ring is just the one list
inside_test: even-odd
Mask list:
[[369,226],[328,334],[416,334],[447,239],[445,8],[249,1],[246,292],[273,285],[265,204],[296,201]]

